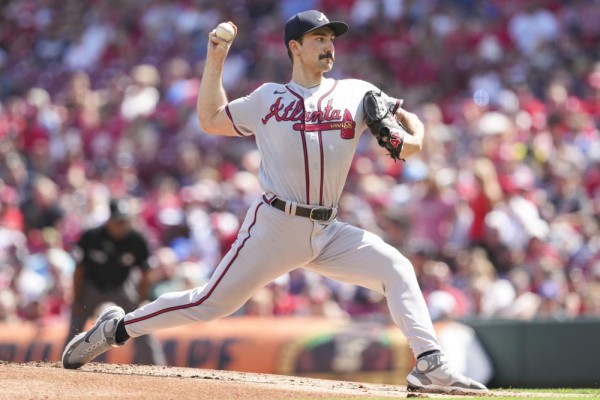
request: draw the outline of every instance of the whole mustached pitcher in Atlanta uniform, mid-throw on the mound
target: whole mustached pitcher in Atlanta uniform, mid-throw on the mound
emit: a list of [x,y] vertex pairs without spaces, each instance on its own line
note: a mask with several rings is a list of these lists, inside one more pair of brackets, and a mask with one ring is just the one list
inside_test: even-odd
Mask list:
[[227,316],[257,289],[304,267],[386,296],[417,359],[407,378],[410,390],[487,391],[445,360],[410,261],[377,235],[336,219],[362,132],[369,128],[391,157],[402,160],[420,151],[423,124],[370,83],[324,76],[335,61],[334,42],[348,25],[315,10],[285,24],[291,81],[266,83],[229,101],[222,73],[237,28],[228,25],[209,34],[198,117],[208,134],[255,136],[264,195],[205,286],[165,294],[126,315],[118,307],[105,310],[66,346],[63,366],[78,368],[130,337]]

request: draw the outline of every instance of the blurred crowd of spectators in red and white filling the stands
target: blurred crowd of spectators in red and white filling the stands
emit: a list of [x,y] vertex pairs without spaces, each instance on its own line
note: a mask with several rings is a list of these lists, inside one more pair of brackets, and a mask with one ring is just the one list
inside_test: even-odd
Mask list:
[[[414,264],[431,316],[600,316],[600,1],[9,0],[0,5],[0,321],[65,318],[73,243],[133,199],[152,296],[204,284],[261,194],[252,138],[202,134],[208,32],[239,28],[230,99],[286,82],[283,24],[350,31],[330,77],[403,98],[423,152],[361,138],[339,219]],[[303,270],[237,312],[385,320]]]

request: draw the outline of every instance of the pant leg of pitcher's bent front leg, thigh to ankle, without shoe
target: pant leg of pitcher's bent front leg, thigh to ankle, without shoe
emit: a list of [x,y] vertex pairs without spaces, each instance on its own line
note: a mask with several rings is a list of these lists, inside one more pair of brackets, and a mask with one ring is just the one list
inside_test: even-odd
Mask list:
[[377,235],[340,225],[330,245],[307,268],[384,294],[415,357],[440,349],[412,264]]

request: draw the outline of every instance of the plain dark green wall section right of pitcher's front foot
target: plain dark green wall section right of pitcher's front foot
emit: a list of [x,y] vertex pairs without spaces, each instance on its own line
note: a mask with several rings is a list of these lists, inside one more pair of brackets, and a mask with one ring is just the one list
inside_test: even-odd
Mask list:
[[493,387],[600,388],[600,319],[464,320],[493,361]]

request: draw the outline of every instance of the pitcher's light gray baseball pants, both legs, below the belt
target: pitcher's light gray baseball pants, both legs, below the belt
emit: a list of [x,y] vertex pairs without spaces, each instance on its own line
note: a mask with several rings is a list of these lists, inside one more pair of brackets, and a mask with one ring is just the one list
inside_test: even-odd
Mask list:
[[203,287],[167,293],[125,316],[131,337],[225,317],[259,288],[299,267],[386,296],[415,357],[439,350],[410,261],[379,236],[355,226],[288,215],[265,199],[250,207],[236,242]]

